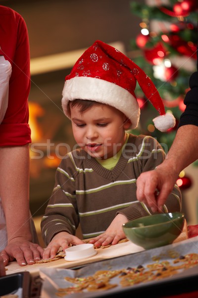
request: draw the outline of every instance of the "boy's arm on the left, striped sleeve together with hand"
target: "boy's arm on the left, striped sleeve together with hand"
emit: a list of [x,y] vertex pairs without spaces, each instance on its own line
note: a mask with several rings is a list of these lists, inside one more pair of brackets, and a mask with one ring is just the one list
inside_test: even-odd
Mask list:
[[75,236],[79,217],[74,172],[75,168],[71,167],[68,158],[62,160],[56,170],[55,186],[41,222],[42,236],[47,245],[43,254],[44,259],[55,257],[60,247],[64,250],[70,245],[84,243]]

